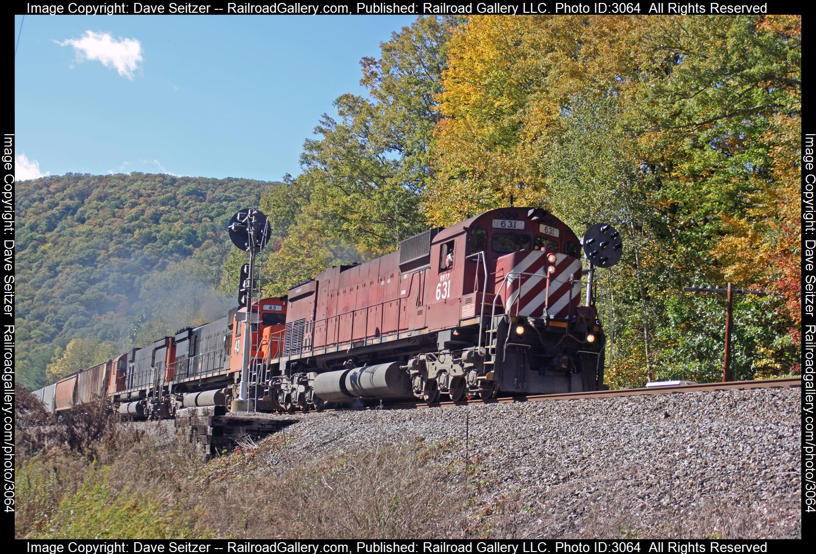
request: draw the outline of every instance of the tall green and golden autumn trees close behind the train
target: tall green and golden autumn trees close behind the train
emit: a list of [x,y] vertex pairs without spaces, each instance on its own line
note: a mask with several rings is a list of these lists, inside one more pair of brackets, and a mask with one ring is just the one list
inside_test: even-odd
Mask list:
[[611,386],[718,379],[725,299],[682,289],[727,281],[770,293],[737,296],[730,377],[798,370],[799,16],[421,17],[380,50],[262,198],[268,290],[512,196],[621,231]]

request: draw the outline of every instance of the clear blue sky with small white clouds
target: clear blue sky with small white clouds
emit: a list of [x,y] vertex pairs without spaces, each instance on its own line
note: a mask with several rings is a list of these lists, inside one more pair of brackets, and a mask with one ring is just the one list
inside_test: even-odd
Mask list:
[[297,175],[320,115],[345,92],[365,94],[361,57],[379,57],[414,19],[25,16],[17,177]]

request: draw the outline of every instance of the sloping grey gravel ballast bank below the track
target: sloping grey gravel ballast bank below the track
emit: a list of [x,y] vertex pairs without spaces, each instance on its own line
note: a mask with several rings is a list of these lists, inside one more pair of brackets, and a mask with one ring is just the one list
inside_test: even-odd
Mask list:
[[800,394],[267,415],[299,422],[263,455],[280,466],[378,445],[437,449],[495,537],[800,538]]

